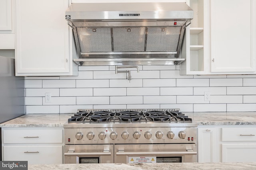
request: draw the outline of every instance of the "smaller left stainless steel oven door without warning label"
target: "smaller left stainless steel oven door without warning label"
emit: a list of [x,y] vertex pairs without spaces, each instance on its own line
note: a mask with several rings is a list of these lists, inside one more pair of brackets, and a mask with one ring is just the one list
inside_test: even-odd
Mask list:
[[65,145],[64,163],[114,163],[113,145]]

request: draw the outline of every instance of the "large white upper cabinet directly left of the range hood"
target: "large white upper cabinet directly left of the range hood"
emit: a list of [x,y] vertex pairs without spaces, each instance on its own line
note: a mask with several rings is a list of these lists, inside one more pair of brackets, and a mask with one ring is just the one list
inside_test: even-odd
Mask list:
[[69,5],[69,0],[16,0],[16,76],[76,74],[65,20]]

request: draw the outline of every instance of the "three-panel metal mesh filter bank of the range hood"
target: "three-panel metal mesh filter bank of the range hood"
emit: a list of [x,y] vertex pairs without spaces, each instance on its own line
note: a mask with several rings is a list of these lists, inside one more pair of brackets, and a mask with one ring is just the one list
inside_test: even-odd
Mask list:
[[181,26],[78,27],[81,52],[177,51]]

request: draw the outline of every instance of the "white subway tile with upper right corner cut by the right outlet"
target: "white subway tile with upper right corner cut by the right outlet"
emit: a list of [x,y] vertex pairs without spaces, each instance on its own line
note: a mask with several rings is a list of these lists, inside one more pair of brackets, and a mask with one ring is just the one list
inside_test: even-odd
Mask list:
[[204,101],[204,96],[177,96],[177,104],[209,103]]

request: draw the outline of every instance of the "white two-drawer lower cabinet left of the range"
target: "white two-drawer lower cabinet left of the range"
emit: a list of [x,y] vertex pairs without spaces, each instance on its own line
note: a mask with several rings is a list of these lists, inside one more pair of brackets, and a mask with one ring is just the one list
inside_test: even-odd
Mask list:
[[62,127],[3,127],[2,160],[28,164],[63,163]]

